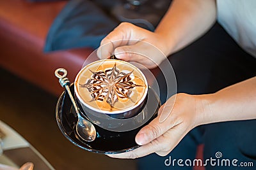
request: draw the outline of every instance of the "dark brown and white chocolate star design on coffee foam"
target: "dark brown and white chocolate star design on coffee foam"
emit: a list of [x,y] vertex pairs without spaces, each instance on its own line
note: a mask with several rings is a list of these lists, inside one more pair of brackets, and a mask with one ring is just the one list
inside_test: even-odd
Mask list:
[[[91,71],[91,70],[90,70]],[[131,74],[120,72],[116,64],[111,69],[93,72],[92,78],[85,84],[80,84],[91,92],[92,101],[104,101],[113,108],[114,104],[121,99],[130,99],[131,90],[134,87],[141,87],[132,82]]]

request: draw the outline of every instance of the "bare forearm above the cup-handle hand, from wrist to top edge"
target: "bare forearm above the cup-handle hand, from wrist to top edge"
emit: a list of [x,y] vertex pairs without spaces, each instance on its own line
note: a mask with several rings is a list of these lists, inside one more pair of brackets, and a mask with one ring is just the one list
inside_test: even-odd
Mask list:
[[164,53],[170,55],[202,36],[216,21],[215,0],[173,1],[156,33],[164,37]]

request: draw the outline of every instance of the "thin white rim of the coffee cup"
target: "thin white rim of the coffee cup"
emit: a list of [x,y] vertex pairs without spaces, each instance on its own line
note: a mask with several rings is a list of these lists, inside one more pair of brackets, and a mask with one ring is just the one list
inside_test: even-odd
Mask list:
[[[81,96],[79,95],[79,93],[78,93],[77,81],[78,81],[79,75],[84,71],[84,69],[86,69],[86,67],[92,66],[92,65],[95,64],[95,63],[98,63],[98,62],[105,62],[105,61],[114,61],[114,60],[115,60],[116,62],[123,62],[124,64],[128,64],[129,66],[134,67],[134,68],[136,69],[136,71],[138,71],[138,72],[141,74],[141,76],[142,76],[142,78],[143,78],[143,80],[144,80],[144,83],[145,83],[145,85],[146,85],[145,92],[144,92],[143,96],[141,97],[140,101],[138,101],[137,104],[134,104],[134,106],[132,106],[132,107],[130,107],[130,108],[127,108],[127,109],[125,109],[125,110],[107,111],[107,110],[100,110],[100,109],[98,109],[98,108],[94,108],[94,107],[90,106],[89,104],[85,103],[84,100],[82,99],[82,97],[81,97]],[[132,65],[132,64],[129,63],[129,62],[125,62],[124,60],[116,60],[116,59],[96,60],[96,61],[91,62],[90,64],[84,66],[84,67],[79,71],[79,73],[77,73],[76,79],[75,79],[75,81],[74,81],[74,92],[75,92],[75,95],[76,95],[78,101],[79,101],[81,104],[83,104],[86,108],[89,108],[90,110],[93,110],[93,111],[96,111],[96,112],[99,112],[99,113],[109,114],[109,115],[111,115],[111,114],[120,114],[120,113],[125,113],[125,112],[127,112],[127,111],[134,110],[135,108],[137,108],[138,106],[140,106],[140,104],[141,104],[143,101],[145,101],[145,98],[147,97],[147,94],[148,94],[148,82],[147,82],[147,78],[146,78],[145,75],[142,73],[142,71],[141,71],[138,67]]]

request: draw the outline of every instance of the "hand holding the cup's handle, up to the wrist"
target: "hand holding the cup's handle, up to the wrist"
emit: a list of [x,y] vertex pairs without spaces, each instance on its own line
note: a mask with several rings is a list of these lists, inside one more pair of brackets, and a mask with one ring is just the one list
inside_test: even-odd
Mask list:
[[136,25],[123,22],[102,39],[97,50],[100,59],[115,54],[116,58],[138,62],[149,69],[156,67],[166,57],[167,43],[164,36]]

